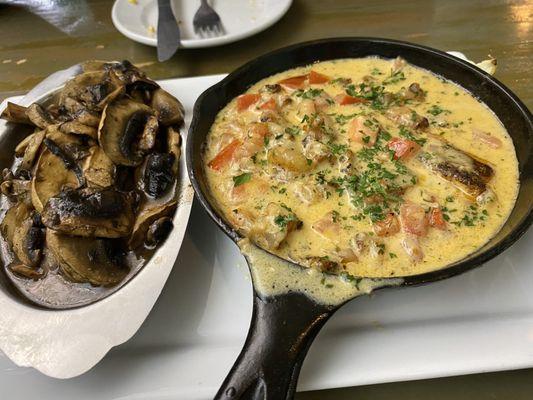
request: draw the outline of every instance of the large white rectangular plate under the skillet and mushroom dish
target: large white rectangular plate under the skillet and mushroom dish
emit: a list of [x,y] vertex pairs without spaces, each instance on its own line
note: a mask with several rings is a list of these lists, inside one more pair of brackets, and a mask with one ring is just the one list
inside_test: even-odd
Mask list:
[[[163,81],[193,99],[222,76]],[[299,390],[533,366],[533,231],[485,266],[428,286],[360,298],[328,322]],[[5,398],[212,398],[246,337],[252,290],[237,247],[193,205],[178,260],[133,339],[87,374],[57,381],[0,356]]]

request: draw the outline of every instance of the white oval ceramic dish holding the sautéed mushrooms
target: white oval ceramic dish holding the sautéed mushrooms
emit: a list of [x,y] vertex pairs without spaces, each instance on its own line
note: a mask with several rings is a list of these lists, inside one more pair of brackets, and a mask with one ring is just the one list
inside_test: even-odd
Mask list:
[[[54,79],[64,82],[69,70],[54,74]],[[57,86],[32,91],[17,102],[27,106],[36,101],[35,93],[42,100],[55,90]],[[0,105],[0,110],[4,106]],[[0,138],[8,134],[6,125],[0,121]],[[182,146],[185,132],[182,129]],[[71,378],[130,339],[159,297],[183,241],[194,197],[185,157],[180,159],[178,187],[180,197],[169,237],[137,275],[109,297],[89,306],[55,311],[32,306],[8,285],[0,285],[0,350],[19,366],[33,367],[55,378]]]

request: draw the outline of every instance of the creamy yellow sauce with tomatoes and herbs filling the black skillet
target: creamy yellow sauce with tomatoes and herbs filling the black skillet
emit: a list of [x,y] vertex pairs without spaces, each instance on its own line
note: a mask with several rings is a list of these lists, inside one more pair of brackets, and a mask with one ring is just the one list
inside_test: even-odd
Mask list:
[[[327,81],[311,83],[311,71]],[[299,76],[307,78],[276,85]],[[420,274],[482,247],[514,206],[518,163],[505,128],[465,89],[426,70],[377,58],[327,61],[266,78],[247,94],[255,98],[234,99],[211,128],[209,189],[233,226],[284,259],[352,277]],[[346,94],[351,104],[342,104]],[[416,149],[402,155],[395,140]],[[446,179],[449,169],[432,160],[459,165],[457,175],[467,171],[468,179]],[[490,176],[474,171],[478,162]],[[364,186],[376,171],[379,179]],[[376,181],[372,196],[357,192]],[[405,218],[405,205],[423,210],[423,227]],[[383,234],[389,216],[392,232]],[[279,265],[256,282],[306,286],[286,269],[275,277]],[[311,286],[320,298],[329,293]]]

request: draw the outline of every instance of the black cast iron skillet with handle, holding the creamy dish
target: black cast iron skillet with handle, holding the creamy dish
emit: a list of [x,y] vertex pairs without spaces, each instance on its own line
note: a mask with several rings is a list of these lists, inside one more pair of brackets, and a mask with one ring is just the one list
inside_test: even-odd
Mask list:
[[[217,113],[257,81],[290,68],[337,58],[401,56],[473,93],[500,118],[512,136],[520,165],[518,200],[502,230],[483,248],[447,268],[405,277],[402,286],[449,278],[490,260],[514,243],[533,220],[533,120],[527,107],[504,85],[468,62],[416,44],[375,38],[324,39],[289,46],[240,67],[207,89],[194,106],[187,139],[187,168],[198,200],[233,240],[241,236],[221,216],[209,196],[202,166],[203,143]],[[244,348],[216,399],[291,399],[311,342],[340,306],[317,304],[302,293],[263,297],[254,290],[254,307]]]

